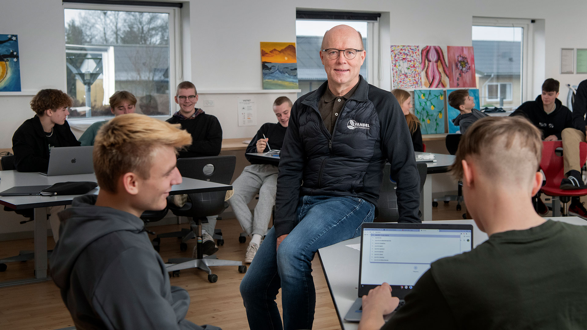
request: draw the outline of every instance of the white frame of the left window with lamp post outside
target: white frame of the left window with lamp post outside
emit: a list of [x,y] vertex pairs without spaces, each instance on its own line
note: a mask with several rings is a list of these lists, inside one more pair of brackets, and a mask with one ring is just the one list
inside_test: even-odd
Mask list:
[[[141,6],[141,5],[116,5],[116,4],[85,4],[77,2],[63,2],[62,11],[65,9],[86,9],[97,11],[127,11],[127,12],[154,12],[168,14],[169,26],[169,110],[168,115],[150,116],[159,119],[168,119],[173,115],[175,87],[177,86],[177,79],[183,77],[183,68],[181,67],[182,59],[182,41],[181,41],[181,8],[166,7],[166,6]],[[63,19],[65,26],[65,17]],[[65,36],[65,30],[64,30]],[[65,66],[65,45],[63,46],[63,64]],[[67,85],[67,76],[64,75],[64,85]],[[94,123],[111,117],[68,117],[68,121]]]

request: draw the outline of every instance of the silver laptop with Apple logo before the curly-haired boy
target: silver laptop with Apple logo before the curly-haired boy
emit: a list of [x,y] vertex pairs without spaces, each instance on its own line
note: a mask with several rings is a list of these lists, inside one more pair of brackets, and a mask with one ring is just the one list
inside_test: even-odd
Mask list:
[[93,146],[52,148],[46,176],[94,173]]

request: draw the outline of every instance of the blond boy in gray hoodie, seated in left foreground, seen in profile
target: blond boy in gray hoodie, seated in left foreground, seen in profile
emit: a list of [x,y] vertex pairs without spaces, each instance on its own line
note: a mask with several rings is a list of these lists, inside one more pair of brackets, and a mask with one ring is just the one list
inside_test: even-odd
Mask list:
[[140,215],[163,210],[181,183],[177,150],[189,133],[144,115],[114,117],[94,143],[98,196],[73,200],[59,213],[61,239],[51,277],[76,329],[194,329],[185,319],[190,295],[171,287]]

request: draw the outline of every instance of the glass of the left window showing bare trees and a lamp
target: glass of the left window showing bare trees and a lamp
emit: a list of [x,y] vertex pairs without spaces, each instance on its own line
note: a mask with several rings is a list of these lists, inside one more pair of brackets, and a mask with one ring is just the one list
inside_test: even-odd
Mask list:
[[70,117],[113,116],[117,90],[136,96],[137,113],[170,115],[168,16],[65,9]]

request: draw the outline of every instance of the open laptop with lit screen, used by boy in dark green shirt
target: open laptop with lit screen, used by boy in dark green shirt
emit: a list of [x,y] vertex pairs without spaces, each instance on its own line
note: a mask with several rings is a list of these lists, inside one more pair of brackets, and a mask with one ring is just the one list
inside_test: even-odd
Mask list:
[[[402,307],[404,297],[433,261],[471,249],[473,225],[470,224],[363,224],[359,298],[350,307],[345,321],[360,321],[361,297],[383,282],[391,285],[393,297],[400,299],[398,308]],[[386,315],[386,321],[392,314]]]

